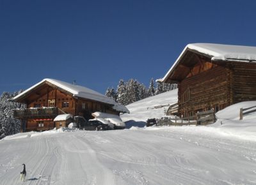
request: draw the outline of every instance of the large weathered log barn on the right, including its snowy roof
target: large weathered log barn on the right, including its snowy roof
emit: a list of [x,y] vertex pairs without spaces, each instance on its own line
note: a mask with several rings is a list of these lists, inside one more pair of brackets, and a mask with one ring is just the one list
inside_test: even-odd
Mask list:
[[256,100],[256,47],[193,43],[187,45],[159,82],[178,84],[177,115],[215,112]]

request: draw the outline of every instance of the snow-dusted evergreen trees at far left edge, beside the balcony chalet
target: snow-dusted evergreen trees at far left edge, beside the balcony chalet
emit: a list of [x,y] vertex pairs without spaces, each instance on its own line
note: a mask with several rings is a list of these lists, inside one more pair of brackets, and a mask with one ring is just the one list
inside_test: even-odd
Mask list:
[[[19,93],[21,93],[20,91]],[[18,93],[3,93],[0,96],[0,139],[7,135],[20,132],[20,121],[13,117],[14,108],[24,108],[24,105],[13,101],[8,101]]]

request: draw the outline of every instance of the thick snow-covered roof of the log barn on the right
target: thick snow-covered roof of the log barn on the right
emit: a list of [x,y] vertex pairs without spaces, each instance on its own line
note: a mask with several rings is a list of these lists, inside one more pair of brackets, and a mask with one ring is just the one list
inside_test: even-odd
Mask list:
[[196,52],[205,54],[211,57],[212,61],[256,62],[256,47],[215,43],[191,43],[184,48],[166,75],[157,81],[164,82],[166,78],[169,77],[170,73],[179,64],[180,59],[184,56],[187,50],[195,50]]

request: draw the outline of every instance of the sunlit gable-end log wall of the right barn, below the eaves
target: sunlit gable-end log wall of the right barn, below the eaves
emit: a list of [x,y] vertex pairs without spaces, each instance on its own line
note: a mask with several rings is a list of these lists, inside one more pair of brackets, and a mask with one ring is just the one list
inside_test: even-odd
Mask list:
[[212,108],[220,110],[230,105],[229,69],[215,66],[179,83],[179,114],[195,115],[198,111]]

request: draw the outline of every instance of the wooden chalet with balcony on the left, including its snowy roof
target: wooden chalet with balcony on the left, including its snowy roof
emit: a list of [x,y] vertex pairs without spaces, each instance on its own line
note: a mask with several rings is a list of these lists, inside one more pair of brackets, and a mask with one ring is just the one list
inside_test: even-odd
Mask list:
[[92,89],[51,78],[18,94],[13,101],[26,105],[25,109],[16,109],[13,113],[21,121],[21,132],[53,129],[56,127],[54,118],[60,114],[88,120],[93,118],[93,112],[129,113],[125,106]]

